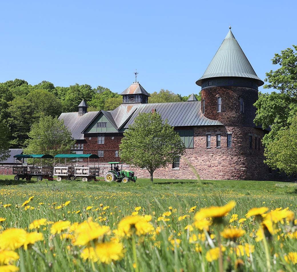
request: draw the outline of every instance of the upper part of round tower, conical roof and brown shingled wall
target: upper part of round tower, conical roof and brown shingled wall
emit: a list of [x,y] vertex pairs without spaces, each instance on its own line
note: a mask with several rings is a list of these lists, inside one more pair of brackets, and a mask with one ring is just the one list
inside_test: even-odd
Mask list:
[[247,57],[230,30],[197,80],[201,86],[201,111],[225,126],[252,126],[258,99],[258,86],[264,82],[257,77]]

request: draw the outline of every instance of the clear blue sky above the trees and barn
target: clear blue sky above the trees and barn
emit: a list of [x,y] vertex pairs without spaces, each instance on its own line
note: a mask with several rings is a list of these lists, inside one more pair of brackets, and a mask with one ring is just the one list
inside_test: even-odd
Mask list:
[[[226,34],[264,80],[297,44],[296,1],[2,1],[0,82],[98,85],[188,95]],[[260,87],[262,90],[262,87]]]

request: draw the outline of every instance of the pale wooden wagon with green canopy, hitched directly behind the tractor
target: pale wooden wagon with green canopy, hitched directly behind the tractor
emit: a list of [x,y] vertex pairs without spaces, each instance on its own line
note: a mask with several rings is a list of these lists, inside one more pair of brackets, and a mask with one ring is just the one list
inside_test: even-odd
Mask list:
[[[67,163],[67,159],[68,161],[70,159],[75,165]],[[88,161],[79,163],[79,159],[88,159]],[[90,159],[98,159],[98,165],[95,164],[95,160],[90,162]],[[54,157],[53,175],[57,176],[57,181],[72,178],[82,178],[83,181],[96,180],[99,170],[99,156],[96,154],[57,154]]]

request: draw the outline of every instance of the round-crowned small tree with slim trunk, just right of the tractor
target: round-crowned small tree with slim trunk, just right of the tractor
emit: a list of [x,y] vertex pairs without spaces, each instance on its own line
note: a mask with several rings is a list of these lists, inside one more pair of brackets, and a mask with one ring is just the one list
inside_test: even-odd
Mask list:
[[140,113],[124,133],[120,144],[121,160],[146,168],[153,182],[154,171],[166,167],[184,153],[181,137],[159,113]]

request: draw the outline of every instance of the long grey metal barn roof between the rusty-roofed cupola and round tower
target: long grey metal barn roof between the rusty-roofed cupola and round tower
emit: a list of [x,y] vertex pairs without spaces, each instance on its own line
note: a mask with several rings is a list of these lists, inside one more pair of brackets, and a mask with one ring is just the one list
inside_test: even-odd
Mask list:
[[220,121],[206,118],[201,112],[200,101],[141,104],[131,116],[125,128],[133,124],[139,113],[149,113],[152,109],[168,119],[170,126],[213,126],[223,125]]

